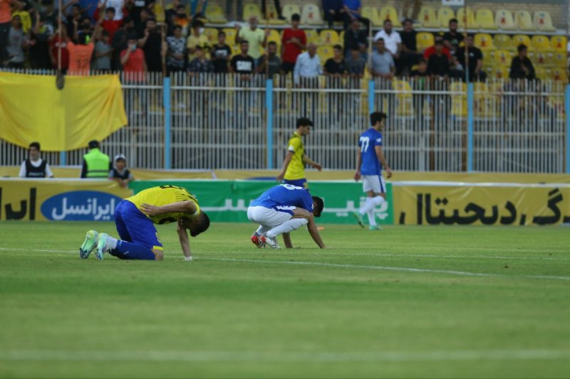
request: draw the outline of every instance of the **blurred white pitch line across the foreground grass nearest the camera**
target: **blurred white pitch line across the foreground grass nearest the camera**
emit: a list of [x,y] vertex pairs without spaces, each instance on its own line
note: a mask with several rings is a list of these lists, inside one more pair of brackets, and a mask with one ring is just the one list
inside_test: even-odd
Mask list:
[[0,351],[0,361],[155,361],[155,362],[410,362],[566,360],[570,350],[453,350],[363,352],[267,351]]

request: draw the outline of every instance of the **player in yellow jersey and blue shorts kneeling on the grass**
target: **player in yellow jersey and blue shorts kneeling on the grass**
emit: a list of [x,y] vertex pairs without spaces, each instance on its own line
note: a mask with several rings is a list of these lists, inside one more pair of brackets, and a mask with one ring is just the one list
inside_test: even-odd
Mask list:
[[98,260],[105,252],[121,260],[162,260],[162,242],[153,224],[178,224],[178,239],[185,260],[192,260],[187,230],[196,237],[209,227],[209,218],[200,210],[198,201],[186,188],[160,186],[147,188],[125,198],[115,208],[115,225],[120,240],[106,233],[89,230],[79,256],[89,257],[95,250]]

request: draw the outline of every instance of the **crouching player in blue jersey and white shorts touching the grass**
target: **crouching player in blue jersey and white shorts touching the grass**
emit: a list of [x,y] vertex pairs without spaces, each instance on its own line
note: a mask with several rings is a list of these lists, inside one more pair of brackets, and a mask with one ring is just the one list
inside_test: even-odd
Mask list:
[[247,208],[247,218],[259,224],[252,235],[252,242],[257,247],[269,245],[279,249],[277,236],[283,234],[285,247],[291,248],[293,245],[289,233],[307,225],[318,247],[324,248],[314,219],[321,216],[323,206],[322,198],[311,196],[303,187],[281,184],[269,188]]

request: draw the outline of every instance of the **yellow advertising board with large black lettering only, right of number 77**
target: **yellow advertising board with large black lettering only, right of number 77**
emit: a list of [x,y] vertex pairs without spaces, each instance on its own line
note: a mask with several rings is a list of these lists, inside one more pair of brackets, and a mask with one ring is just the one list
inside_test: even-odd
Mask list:
[[570,223],[568,184],[393,183],[401,225],[557,225]]

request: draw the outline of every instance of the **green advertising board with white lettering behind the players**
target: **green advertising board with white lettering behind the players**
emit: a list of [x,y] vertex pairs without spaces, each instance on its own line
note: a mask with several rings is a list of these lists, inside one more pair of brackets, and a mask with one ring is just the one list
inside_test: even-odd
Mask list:
[[[133,181],[130,188],[138,193],[146,188],[170,184],[187,188],[198,198],[200,208],[212,221],[249,223],[249,203],[272,186],[274,181],[249,180],[171,180]],[[311,181],[311,194],[325,201],[325,208],[318,223],[354,224],[352,213],[366,201],[362,183],[354,181]],[[376,221],[393,224],[392,184],[386,185],[386,203],[375,210]]]

